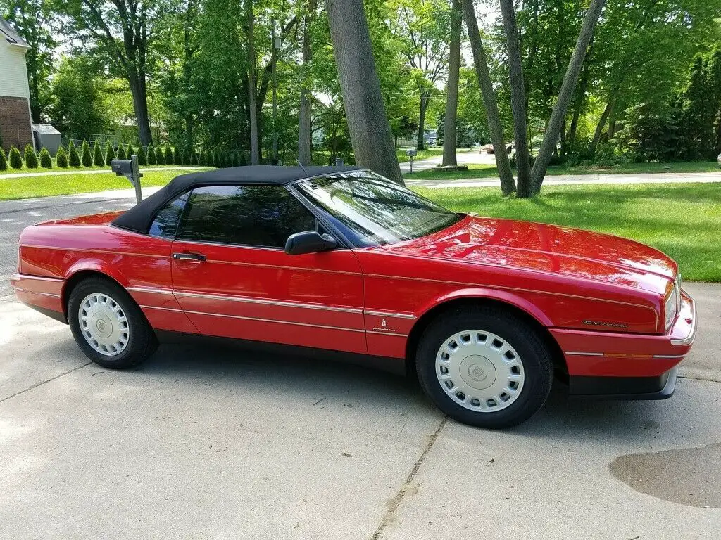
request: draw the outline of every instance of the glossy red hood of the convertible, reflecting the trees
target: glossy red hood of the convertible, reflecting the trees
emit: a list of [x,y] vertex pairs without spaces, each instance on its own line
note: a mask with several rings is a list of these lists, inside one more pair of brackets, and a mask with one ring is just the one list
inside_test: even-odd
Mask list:
[[673,259],[645,244],[587,230],[466,216],[450,228],[387,246],[412,256],[552,272],[663,294]]

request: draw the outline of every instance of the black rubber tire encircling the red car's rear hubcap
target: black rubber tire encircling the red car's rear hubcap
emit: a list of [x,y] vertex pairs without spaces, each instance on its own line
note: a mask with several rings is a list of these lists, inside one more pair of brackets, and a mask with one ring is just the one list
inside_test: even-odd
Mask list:
[[[115,356],[107,356],[96,351],[83,335],[79,321],[79,308],[89,294],[107,294],[117,302],[128,320],[128,342],[125,348]],[[68,323],[70,323],[73,337],[81,351],[89,359],[103,367],[125,369],[136,366],[151,356],[158,346],[155,333],[135,300],[123,287],[110,279],[89,277],[76,284],[68,299]]]

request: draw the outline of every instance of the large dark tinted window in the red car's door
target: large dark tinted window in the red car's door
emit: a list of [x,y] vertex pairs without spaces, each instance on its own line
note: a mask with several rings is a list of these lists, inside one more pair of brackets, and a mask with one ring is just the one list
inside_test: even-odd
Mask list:
[[283,186],[208,186],[190,194],[177,239],[283,248],[291,234],[315,228]]

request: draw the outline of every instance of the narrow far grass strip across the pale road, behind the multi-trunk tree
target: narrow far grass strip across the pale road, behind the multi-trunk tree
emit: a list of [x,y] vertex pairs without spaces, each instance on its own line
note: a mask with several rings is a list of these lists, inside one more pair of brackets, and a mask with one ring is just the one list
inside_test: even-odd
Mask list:
[[[547,174],[639,174],[639,173],[713,173],[721,172],[715,161],[689,161],[678,163],[628,163],[614,167],[599,166],[566,166],[559,165],[548,168]],[[468,171],[455,171],[451,173],[439,171],[420,171],[406,174],[407,179],[428,180],[460,180],[477,179],[498,176],[495,163],[479,163],[469,165]]]

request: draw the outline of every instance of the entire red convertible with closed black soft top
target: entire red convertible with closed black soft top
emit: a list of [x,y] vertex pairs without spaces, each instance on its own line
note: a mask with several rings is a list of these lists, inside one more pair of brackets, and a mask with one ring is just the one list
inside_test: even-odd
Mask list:
[[17,297],[125,368],[178,333],[417,374],[474,426],[570,395],[670,397],[696,333],[676,263],[583,230],[456,214],[357,168],[178,176],[127,212],[26,228]]

